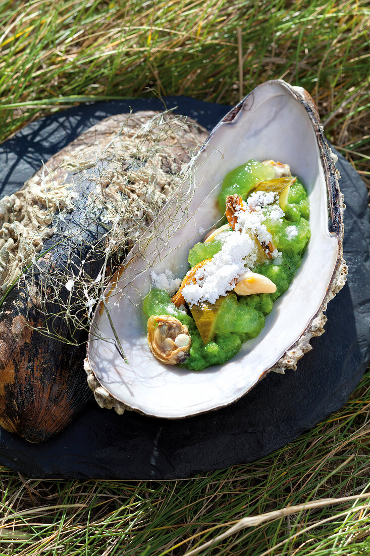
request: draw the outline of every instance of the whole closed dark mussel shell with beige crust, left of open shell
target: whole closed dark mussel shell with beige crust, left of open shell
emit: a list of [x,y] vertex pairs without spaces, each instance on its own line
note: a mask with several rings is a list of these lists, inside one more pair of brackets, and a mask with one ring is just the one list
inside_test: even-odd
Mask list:
[[[78,324],[86,326],[87,309],[95,300],[86,302],[83,290],[98,286],[99,275],[104,279],[99,253],[112,237],[112,222],[122,223],[117,249],[112,248],[115,260],[147,229],[177,186],[178,172],[206,137],[196,122],[172,113],[112,116],[0,201],[0,287],[7,290],[18,280],[0,311],[4,429],[40,442],[62,430],[89,402],[82,368],[87,330],[76,326],[76,305],[82,300]],[[74,272],[79,280],[72,290],[67,285],[73,285]]]

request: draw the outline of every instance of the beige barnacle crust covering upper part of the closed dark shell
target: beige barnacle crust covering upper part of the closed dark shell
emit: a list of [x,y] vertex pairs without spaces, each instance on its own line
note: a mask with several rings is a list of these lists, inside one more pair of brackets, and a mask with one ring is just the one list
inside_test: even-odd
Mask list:
[[[54,233],[53,216],[57,211],[73,209],[76,195],[71,187],[83,175],[89,176],[97,161],[103,163],[96,180],[95,202],[99,199],[108,208],[113,206],[114,214],[126,195],[130,214],[136,219],[145,216],[142,229],[137,231],[141,234],[156,207],[179,181],[178,172],[189,162],[189,153],[206,137],[206,131],[190,118],[154,111],[111,116],[82,133],[21,190],[0,200],[1,289],[5,291],[41,252],[44,241]],[[123,231],[130,230],[132,221],[125,206],[122,214]],[[134,237],[130,237],[133,244]]]

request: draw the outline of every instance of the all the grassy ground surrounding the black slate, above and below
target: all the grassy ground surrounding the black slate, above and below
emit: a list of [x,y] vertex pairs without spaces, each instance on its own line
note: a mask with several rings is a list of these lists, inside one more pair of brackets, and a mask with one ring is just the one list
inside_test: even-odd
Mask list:
[[[0,16],[1,140],[75,102],[233,104],[284,78],[311,93],[327,136],[370,178],[363,0],[3,0]],[[2,468],[0,554],[370,554],[369,410],[366,375],[286,448],[189,480],[39,481]]]

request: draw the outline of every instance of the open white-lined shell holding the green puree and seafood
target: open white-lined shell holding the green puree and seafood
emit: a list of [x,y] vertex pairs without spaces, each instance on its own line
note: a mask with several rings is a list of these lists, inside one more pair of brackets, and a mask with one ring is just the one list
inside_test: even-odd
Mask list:
[[[181,322],[181,319],[177,319],[180,321],[179,324],[171,319],[167,322],[164,319],[166,315],[177,318],[176,315],[170,314],[171,311],[166,313],[162,309],[159,312],[155,309],[153,312],[153,307],[148,307],[148,300],[151,300],[153,295],[151,292],[153,289],[161,290],[158,288],[158,284],[161,283],[158,277],[162,276],[163,280],[163,275],[167,276],[168,281],[176,282],[176,289],[181,290],[181,281],[189,268],[190,255],[190,266],[194,272],[191,276],[188,275],[190,280],[183,285],[178,299],[175,289],[172,297],[175,297],[179,304],[175,308],[183,310],[183,296],[185,300],[188,299],[187,316],[189,317],[190,311],[194,322],[201,321],[202,316],[208,313],[204,326],[200,326],[201,330],[199,326],[193,329],[197,331],[204,346],[209,342],[205,344],[203,340],[209,337],[211,352],[217,351],[212,344],[213,339],[217,334],[223,336],[229,326],[227,314],[233,313],[218,307],[218,314],[223,314],[220,325],[217,322],[218,317],[213,319],[209,306],[206,309],[211,312],[199,311],[202,304],[214,305],[217,301],[212,297],[202,296],[202,285],[199,282],[203,281],[204,286],[209,277],[204,268],[212,264],[202,263],[204,260],[214,259],[219,254],[214,252],[212,256],[208,256],[209,251],[206,252],[212,243],[220,243],[221,237],[217,240],[217,235],[234,235],[241,241],[244,234],[245,240],[248,235],[245,233],[246,228],[239,233],[243,228],[241,222],[244,216],[253,216],[254,212],[259,211],[249,210],[254,201],[257,203],[254,207],[261,207],[258,202],[264,204],[266,201],[266,198],[263,200],[263,195],[261,196],[261,190],[258,191],[257,183],[255,195],[249,196],[249,206],[248,197],[239,196],[238,191],[233,192],[227,188],[223,190],[223,182],[237,168],[245,167],[247,161],[255,161],[257,165],[261,165],[268,160],[280,161],[283,163],[282,166],[288,165],[290,168],[289,173],[291,172],[292,177],[272,176],[272,179],[285,180],[279,185],[281,194],[278,194],[277,204],[281,203],[286,207],[288,214],[289,210],[292,211],[289,216],[291,220],[289,224],[284,224],[284,229],[286,232],[287,228],[292,226],[287,232],[291,239],[302,237],[302,249],[299,249],[302,262],[300,265],[294,265],[295,274],[293,272],[294,276],[289,277],[289,287],[288,284],[280,287],[279,293],[283,295],[273,300],[276,292],[262,292],[258,299],[264,299],[264,309],[260,310],[261,302],[258,310],[251,307],[252,301],[256,300],[259,294],[240,295],[242,288],[247,287],[248,279],[253,281],[254,278],[251,274],[244,275],[254,272],[273,282],[271,276],[266,276],[268,272],[272,272],[267,272],[267,269],[281,266],[274,262],[280,262],[283,266],[287,264],[287,260],[284,261],[284,257],[287,257],[287,254],[284,255],[285,247],[276,249],[274,245],[274,241],[279,244],[278,230],[274,232],[275,235],[272,233],[270,246],[267,236],[264,239],[261,236],[257,245],[254,236],[259,234],[257,229],[252,230],[249,240],[251,244],[254,242],[254,261],[245,265],[244,260],[245,269],[239,266],[237,276],[233,275],[231,279],[230,276],[225,277],[229,290],[223,288],[222,293],[218,291],[218,299],[222,300],[220,305],[227,304],[230,309],[239,297],[244,307],[253,309],[257,315],[261,313],[264,319],[266,317],[264,326],[259,327],[259,323],[253,327],[252,321],[256,321],[256,313],[248,311],[253,317],[249,332],[230,332],[232,336],[227,341],[227,349],[234,352],[231,358],[221,358],[218,363],[213,364],[211,353],[207,364],[199,361],[193,364],[194,370],[202,368],[201,372],[182,368],[191,364],[192,347],[187,340],[190,330],[188,323]],[[183,418],[231,404],[247,394],[270,371],[284,373],[286,369],[297,368],[297,361],[312,349],[311,338],[324,331],[324,311],[327,303],[346,281],[347,266],[343,261],[343,197],[339,191],[339,176],[335,162],[336,157],[324,138],[323,128],[311,97],[302,88],[291,87],[283,81],[270,81],[258,86],[219,122],[189,165],[191,172],[188,180],[183,181],[173,192],[151,228],[133,246],[121,269],[104,292],[104,299],[98,304],[89,334],[85,369],[88,384],[99,405],[114,408],[118,413],[131,409],[162,418]],[[274,164],[270,166],[273,167]],[[292,183],[294,177],[297,177],[297,180]],[[268,183],[270,179],[262,177],[259,183]],[[309,203],[309,227],[304,217],[304,234],[301,234],[294,224],[294,211],[288,207],[294,204],[289,201],[292,201],[294,188],[297,187],[295,183],[304,184],[307,188],[308,201],[305,200],[306,193],[298,201],[302,201],[302,212],[306,211],[306,216]],[[284,198],[283,185],[287,187],[288,184],[288,197]],[[261,187],[263,190],[267,186]],[[289,191],[292,195],[290,199]],[[248,193],[251,191],[248,191],[247,195]],[[219,199],[222,195],[224,197],[221,206]],[[239,197],[242,197],[242,200],[239,200]],[[266,209],[266,212],[275,206],[272,210],[278,211],[276,201],[277,197],[272,205],[266,201],[266,207],[262,208]],[[283,210],[281,205],[279,206]],[[223,212],[229,216],[226,222],[221,220]],[[278,214],[276,220],[270,220],[279,224],[279,218],[283,219],[283,216]],[[215,224],[218,232],[214,230]],[[221,230],[224,225],[226,228]],[[237,230],[228,230],[233,226]],[[311,237],[307,244],[310,229]],[[208,242],[206,239],[204,244],[207,232],[211,232],[213,237]],[[226,243],[227,240],[223,242]],[[241,259],[248,256],[244,253]],[[258,257],[272,257],[273,262],[269,265],[261,264],[264,261],[258,260]],[[200,266],[195,269],[197,265]],[[216,274],[218,271],[219,267]],[[198,283],[194,283],[193,278]],[[242,282],[241,286],[237,284],[239,279],[239,283]],[[272,288],[269,282],[266,284],[266,287]],[[274,286],[279,289],[277,284]],[[234,291],[235,287],[237,291]],[[239,295],[238,287],[241,288]],[[170,294],[166,292],[166,295],[171,302]],[[274,301],[273,306],[271,301]],[[147,311],[146,314],[143,307]],[[258,329],[261,330],[259,334],[256,333]],[[164,340],[165,347],[170,348],[162,349],[159,358],[153,355],[152,351],[158,351],[154,347],[157,330],[158,341]],[[162,337],[164,330],[171,332],[168,334],[166,331]],[[247,336],[240,337],[243,334]],[[166,335],[169,341],[166,341]],[[176,345],[177,338],[179,345]],[[234,345],[231,347],[233,342]],[[198,343],[198,346],[202,344]],[[174,360],[171,359],[169,364],[167,361],[163,362],[163,352],[164,359],[171,354],[170,357],[173,355]],[[181,368],[173,363],[179,363]],[[282,377],[282,380],[288,378]]]

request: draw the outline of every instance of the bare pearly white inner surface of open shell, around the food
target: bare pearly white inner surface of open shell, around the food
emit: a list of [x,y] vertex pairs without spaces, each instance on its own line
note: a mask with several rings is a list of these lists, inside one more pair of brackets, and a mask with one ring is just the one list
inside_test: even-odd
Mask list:
[[[322,334],[323,311],[344,285],[347,267],[342,260],[342,196],[317,118],[306,91],[272,81],[257,87],[214,128],[196,159],[195,182],[200,185],[189,204],[186,224],[166,245],[157,219],[158,233],[146,252],[151,267],[137,259],[139,246],[134,247],[130,264],[107,293],[128,365],[115,347],[106,312],[100,307],[94,316],[88,366],[115,399],[166,418],[216,409],[246,394],[267,371],[296,368],[297,360],[311,349],[311,337]],[[287,292],[274,303],[261,334],[246,342],[228,363],[201,373],[162,365],[147,345],[141,306],[150,289],[149,272],[168,268],[179,277],[184,275],[189,249],[203,239],[199,228],[211,229],[219,218],[217,195],[224,176],[249,158],[288,163],[292,175],[308,188],[311,240],[302,265]],[[179,195],[186,206],[186,187]]]

